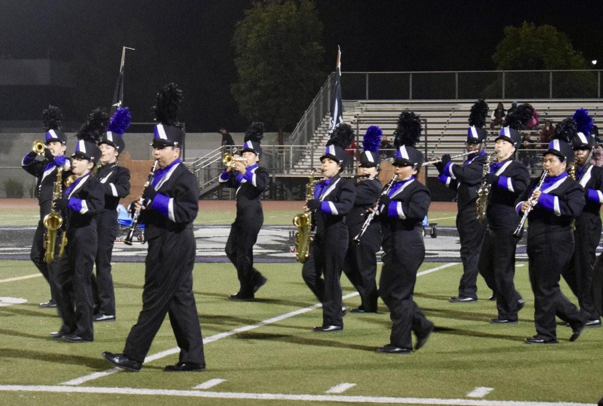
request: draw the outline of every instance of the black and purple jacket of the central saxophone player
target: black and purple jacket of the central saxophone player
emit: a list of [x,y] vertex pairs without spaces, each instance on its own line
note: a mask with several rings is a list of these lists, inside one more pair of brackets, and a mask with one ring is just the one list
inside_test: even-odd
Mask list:
[[[328,185],[326,182],[329,182]],[[347,238],[346,215],[352,210],[356,198],[352,180],[335,175],[330,181],[318,182],[314,188],[314,197],[321,201],[321,208],[316,210],[313,216],[316,235],[321,236],[328,229],[341,232],[339,238]]]

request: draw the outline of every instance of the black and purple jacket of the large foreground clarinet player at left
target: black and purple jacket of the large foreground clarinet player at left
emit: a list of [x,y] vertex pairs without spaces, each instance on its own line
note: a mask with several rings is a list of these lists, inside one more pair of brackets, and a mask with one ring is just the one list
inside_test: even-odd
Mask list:
[[[157,179],[157,178],[156,178]],[[145,238],[151,239],[168,232],[192,229],[199,209],[197,178],[178,161],[163,177],[153,182],[157,194],[140,212],[145,224]]]

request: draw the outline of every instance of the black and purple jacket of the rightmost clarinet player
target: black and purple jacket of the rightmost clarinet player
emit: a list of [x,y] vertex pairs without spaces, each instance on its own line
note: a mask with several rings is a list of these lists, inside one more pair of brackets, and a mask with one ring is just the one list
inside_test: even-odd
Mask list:
[[[532,190],[539,179],[530,182],[528,188],[516,201],[516,212],[520,211],[522,203],[532,195]],[[558,176],[546,177],[543,183],[538,203],[528,215],[528,238],[543,233],[569,231],[572,233],[572,219],[578,216],[584,208],[584,189],[575,180],[563,173]]]

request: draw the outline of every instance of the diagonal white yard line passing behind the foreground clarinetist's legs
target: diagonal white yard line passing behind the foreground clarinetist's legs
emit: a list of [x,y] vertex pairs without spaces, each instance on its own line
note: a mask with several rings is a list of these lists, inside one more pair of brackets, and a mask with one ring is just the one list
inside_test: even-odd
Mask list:
[[[417,273],[417,276],[425,275],[425,274],[428,274],[428,273],[431,273],[434,271],[438,271],[440,269],[444,269],[447,267],[452,267],[453,265],[457,265],[456,262],[450,262],[449,264],[444,264],[444,265],[440,265],[439,267],[421,271],[421,272]],[[349,297],[354,297],[354,296],[358,296],[358,292],[346,294],[342,297],[342,299],[348,299]],[[214,335],[211,335],[210,337],[203,338],[203,344],[209,344],[209,343],[212,343],[213,341],[220,340],[221,338],[229,337],[230,335],[239,334],[240,332],[249,331],[249,330],[256,329],[258,327],[262,327],[262,326],[269,325],[272,323],[280,322],[281,320],[289,319],[289,317],[293,317],[293,316],[298,316],[298,314],[303,314],[303,313],[312,311],[314,309],[318,309],[322,306],[323,305],[321,303],[316,303],[315,305],[308,306],[308,307],[305,307],[302,309],[297,309],[297,310],[294,310],[294,311],[291,311],[291,312],[288,312],[285,314],[281,314],[280,316],[272,317],[271,319],[266,319],[266,320],[263,320],[262,322],[259,322],[256,324],[242,326],[242,327],[230,330],[230,331],[225,331],[225,332],[221,332],[218,334],[214,334]],[[148,355],[147,358],[145,358],[145,363],[148,363],[148,362],[151,362],[154,360],[159,360],[159,358],[167,357],[168,355],[178,354],[179,352],[180,352],[180,347],[174,347],[174,348],[162,351],[162,352],[158,352],[157,354]],[[61,382],[60,385],[80,385],[80,384],[83,384],[84,382],[92,381],[93,379],[98,379],[98,378],[102,378],[103,376],[111,375],[112,373],[119,372],[120,370],[121,369],[119,369],[119,368],[112,368],[112,369],[107,369],[102,372],[93,372],[93,373],[90,373],[89,375],[81,376],[80,378],[75,378],[75,379],[71,379],[70,381]]]

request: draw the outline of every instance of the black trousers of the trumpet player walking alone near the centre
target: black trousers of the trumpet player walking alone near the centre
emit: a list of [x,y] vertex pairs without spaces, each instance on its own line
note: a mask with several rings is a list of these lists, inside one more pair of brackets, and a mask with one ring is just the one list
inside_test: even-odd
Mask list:
[[235,222],[230,226],[230,234],[226,241],[226,255],[236,268],[239,278],[241,297],[253,297],[253,287],[262,281],[264,276],[253,267],[253,245],[264,224],[262,203],[257,201],[237,212]]

